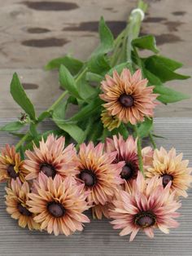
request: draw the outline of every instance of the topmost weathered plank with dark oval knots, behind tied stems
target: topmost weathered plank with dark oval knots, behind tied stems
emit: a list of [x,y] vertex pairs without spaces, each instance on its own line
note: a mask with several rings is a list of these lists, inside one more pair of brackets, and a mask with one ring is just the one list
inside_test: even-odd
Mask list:
[[[2,1],[0,68],[40,68],[68,51],[85,59],[97,46],[101,15],[113,32],[124,28],[137,0]],[[165,55],[190,63],[191,1],[148,0],[143,33],[157,36]]]

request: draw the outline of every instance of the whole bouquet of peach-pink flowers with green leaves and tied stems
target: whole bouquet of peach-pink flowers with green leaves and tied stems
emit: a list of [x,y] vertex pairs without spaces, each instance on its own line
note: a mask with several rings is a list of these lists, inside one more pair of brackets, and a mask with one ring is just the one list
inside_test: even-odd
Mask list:
[[[175,148],[156,148],[153,117],[156,105],[188,98],[164,82],[188,76],[176,72],[181,63],[159,55],[152,35],[139,37],[146,8],[139,1],[115,39],[102,17],[100,44],[88,60],[65,55],[46,65],[59,69],[64,91],[38,117],[13,75],[11,95],[24,113],[1,128],[20,141],[2,148],[0,182],[20,227],[69,236],[90,222],[89,209],[130,241],[139,230],[152,238],[155,228],[178,226],[192,169]],[[68,116],[72,105],[76,113]],[[55,129],[41,133],[46,118]],[[152,147],[142,148],[144,138]]]

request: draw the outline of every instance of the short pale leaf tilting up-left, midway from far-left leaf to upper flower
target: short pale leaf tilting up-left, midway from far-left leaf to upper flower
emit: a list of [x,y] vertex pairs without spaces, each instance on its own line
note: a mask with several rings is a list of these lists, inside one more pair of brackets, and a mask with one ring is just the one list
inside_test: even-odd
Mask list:
[[61,65],[59,69],[59,81],[63,89],[68,90],[69,94],[81,99],[76,88],[76,81],[74,77],[72,77],[72,74],[68,71],[68,68],[63,65]]

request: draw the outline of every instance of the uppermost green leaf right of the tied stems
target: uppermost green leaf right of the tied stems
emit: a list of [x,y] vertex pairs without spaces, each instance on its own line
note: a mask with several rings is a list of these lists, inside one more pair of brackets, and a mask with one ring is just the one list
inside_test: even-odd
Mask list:
[[132,45],[140,49],[153,51],[155,53],[159,52],[159,49],[156,46],[155,37],[152,35],[136,38],[132,41]]

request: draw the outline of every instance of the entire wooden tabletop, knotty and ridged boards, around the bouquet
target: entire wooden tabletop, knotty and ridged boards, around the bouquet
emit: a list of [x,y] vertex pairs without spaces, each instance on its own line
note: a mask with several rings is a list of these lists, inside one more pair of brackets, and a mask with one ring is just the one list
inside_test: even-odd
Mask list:
[[[0,8],[0,126],[20,116],[20,108],[9,95],[12,73],[19,73],[37,113],[49,107],[60,95],[58,73],[45,72],[48,60],[71,52],[85,60],[98,44],[97,26],[105,17],[113,33],[124,28],[129,11],[136,0],[47,0],[1,1]],[[142,25],[142,33],[152,33],[162,54],[185,63],[181,72],[191,73],[191,0],[148,0],[150,9]],[[192,79],[169,82],[168,86],[192,95]],[[176,147],[192,161],[191,99],[170,106],[159,106],[155,119],[157,139],[165,148]],[[177,118],[177,117],[186,117]],[[41,130],[53,125],[44,122]],[[0,133],[0,146],[15,143],[7,133]],[[0,256],[7,255],[191,255],[192,254],[192,192],[183,200],[181,226],[170,235],[155,233],[149,240],[141,232],[133,243],[129,237],[118,236],[106,220],[92,221],[84,232],[66,238],[21,229],[5,210],[3,185],[0,186]]]

